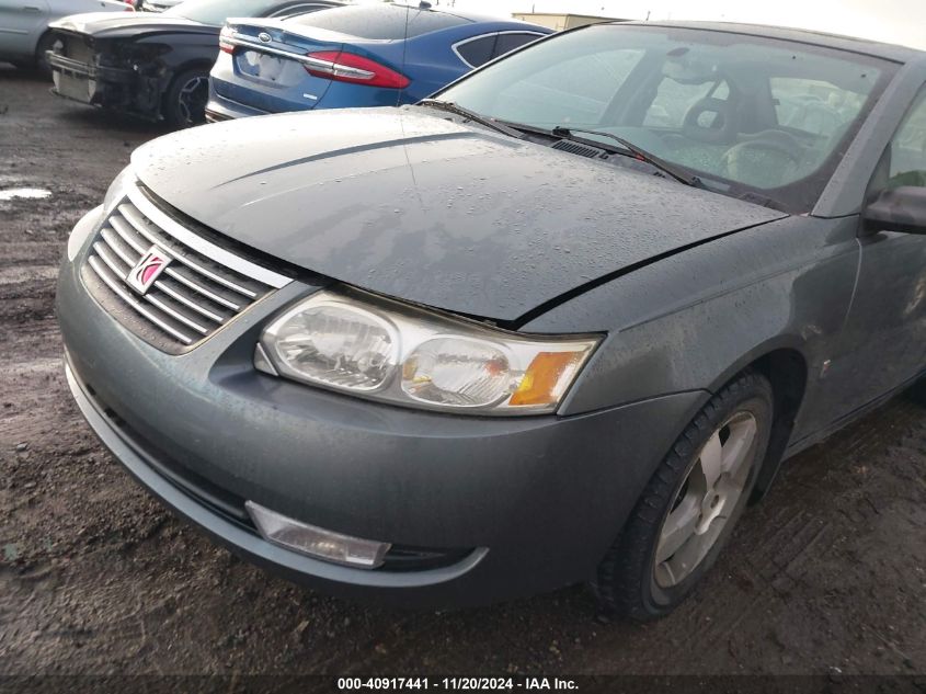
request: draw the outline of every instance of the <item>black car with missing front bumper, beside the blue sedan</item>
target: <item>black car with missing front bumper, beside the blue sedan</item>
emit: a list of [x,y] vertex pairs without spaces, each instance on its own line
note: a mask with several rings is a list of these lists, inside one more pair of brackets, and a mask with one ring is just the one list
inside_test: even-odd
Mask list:
[[185,127],[205,120],[209,69],[229,16],[285,18],[331,0],[187,0],[159,14],[83,14],[50,26],[59,96]]

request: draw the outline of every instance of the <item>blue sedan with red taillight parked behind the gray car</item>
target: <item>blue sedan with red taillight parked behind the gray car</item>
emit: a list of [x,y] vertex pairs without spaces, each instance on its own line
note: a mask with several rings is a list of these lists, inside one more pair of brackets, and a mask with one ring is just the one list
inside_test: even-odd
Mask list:
[[551,33],[391,3],[287,20],[229,20],[209,80],[209,121],[414,103],[475,67]]

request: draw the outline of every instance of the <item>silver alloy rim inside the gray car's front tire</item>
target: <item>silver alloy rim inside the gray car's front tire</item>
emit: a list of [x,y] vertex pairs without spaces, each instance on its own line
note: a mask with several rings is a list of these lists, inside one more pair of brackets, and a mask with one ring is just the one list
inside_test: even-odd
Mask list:
[[755,417],[735,412],[698,452],[660,530],[653,569],[660,588],[684,581],[717,544],[750,479],[757,434]]

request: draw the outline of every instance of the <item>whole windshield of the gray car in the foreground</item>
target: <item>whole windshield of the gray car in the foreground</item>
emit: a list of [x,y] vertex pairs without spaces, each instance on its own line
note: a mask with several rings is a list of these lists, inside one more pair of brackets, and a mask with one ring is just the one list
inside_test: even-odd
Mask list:
[[540,42],[438,98],[545,130],[610,133],[713,190],[808,212],[895,69],[771,38],[607,24]]

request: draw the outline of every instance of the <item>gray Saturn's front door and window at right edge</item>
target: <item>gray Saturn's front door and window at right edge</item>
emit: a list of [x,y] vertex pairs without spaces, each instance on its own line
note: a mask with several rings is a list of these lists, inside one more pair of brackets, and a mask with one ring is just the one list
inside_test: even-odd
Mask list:
[[[926,187],[926,87],[895,130],[867,198],[901,185]],[[865,406],[926,368],[926,236],[859,231],[853,304],[828,376],[842,413]]]

